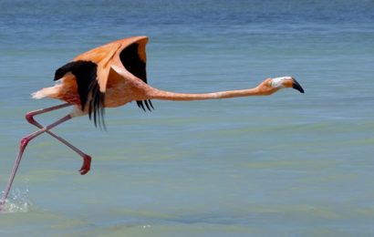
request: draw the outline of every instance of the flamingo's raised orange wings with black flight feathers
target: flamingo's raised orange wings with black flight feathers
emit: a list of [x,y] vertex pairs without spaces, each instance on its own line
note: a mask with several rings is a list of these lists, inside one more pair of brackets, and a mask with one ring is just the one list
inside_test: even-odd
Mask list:
[[[89,119],[95,126],[105,129],[105,92],[109,83],[112,65],[124,67],[135,77],[147,83],[145,45],[146,36],[136,36],[99,46],[74,58],[72,62],[57,69],[55,80],[71,72],[77,80],[78,94],[82,110],[88,111]],[[151,101],[144,102],[151,110]],[[137,101],[144,108],[143,101]],[[150,108],[151,106],[151,108]]]

